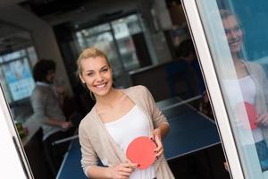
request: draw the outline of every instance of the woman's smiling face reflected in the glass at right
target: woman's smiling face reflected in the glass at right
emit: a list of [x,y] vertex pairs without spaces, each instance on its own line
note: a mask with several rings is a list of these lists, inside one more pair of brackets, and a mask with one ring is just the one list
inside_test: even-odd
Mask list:
[[239,21],[234,15],[230,15],[223,19],[222,23],[230,47],[230,53],[239,53],[243,44],[243,31],[241,30]]

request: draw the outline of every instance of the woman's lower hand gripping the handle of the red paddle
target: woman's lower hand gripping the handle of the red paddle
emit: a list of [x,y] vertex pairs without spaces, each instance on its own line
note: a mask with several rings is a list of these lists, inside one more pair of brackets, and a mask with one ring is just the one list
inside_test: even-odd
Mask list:
[[131,173],[137,168],[137,164],[131,162],[121,163],[118,166],[108,167],[108,174],[113,179],[128,179]]

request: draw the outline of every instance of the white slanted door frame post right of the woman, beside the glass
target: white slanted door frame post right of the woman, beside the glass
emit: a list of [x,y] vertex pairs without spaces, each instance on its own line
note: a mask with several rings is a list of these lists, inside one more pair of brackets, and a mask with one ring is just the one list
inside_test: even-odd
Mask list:
[[[215,122],[222,141],[225,158],[229,164],[230,175],[236,179],[243,179],[245,177],[239,159],[239,152],[231,132],[227,109],[224,105],[211,51],[205,37],[205,30],[198,13],[197,2],[196,0],[182,0],[181,3],[187,17],[191,37],[196,47],[198,61],[205,79],[206,89],[208,90],[207,93],[213,106]],[[216,5],[216,2],[214,3]]]

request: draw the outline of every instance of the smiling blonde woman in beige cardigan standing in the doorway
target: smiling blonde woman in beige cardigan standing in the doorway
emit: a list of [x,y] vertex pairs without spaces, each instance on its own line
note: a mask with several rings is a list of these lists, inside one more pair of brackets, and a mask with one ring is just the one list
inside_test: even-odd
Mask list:
[[[113,88],[112,67],[96,48],[85,49],[78,61],[80,80],[96,98],[96,105],[80,123],[81,164],[90,178],[174,178],[163,157],[161,140],[169,130],[150,92],[143,86]],[[150,136],[157,144],[155,163],[145,170],[126,158],[130,141]],[[100,158],[105,166],[97,166]]]

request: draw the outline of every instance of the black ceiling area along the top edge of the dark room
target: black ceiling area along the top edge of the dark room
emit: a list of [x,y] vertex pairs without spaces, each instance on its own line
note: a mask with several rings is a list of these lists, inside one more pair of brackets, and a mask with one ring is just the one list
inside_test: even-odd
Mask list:
[[100,16],[127,13],[137,7],[139,1],[141,0],[24,0],[19,5],[53,26],[66,21],[93,21]]

